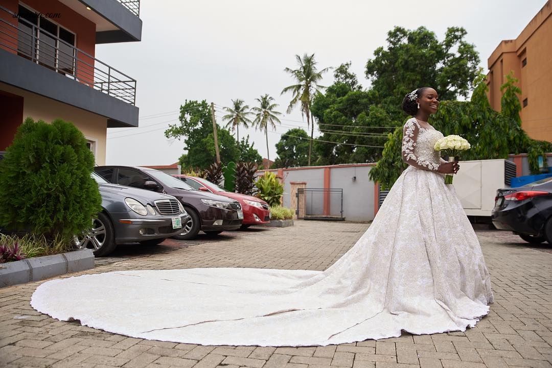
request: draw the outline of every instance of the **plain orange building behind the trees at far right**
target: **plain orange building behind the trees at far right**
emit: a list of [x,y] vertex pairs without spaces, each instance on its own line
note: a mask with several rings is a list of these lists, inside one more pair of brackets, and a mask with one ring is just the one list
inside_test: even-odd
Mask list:
[[552,4],[544,7],[515,40],[503,40],[488,61],[489,101],[500,111],[500,86],[513,71],[521,88],[522,127],[531,138],[552,142]]

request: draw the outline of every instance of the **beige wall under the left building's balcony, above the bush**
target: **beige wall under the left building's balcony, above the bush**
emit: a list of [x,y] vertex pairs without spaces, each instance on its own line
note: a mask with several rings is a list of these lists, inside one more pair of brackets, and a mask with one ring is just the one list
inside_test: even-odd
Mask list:
[[95,142],[96,164],[105,165],[106,117],[7,84],[0,83],[0,90],[23,97],[23,120],[29,116],[45,122],[60,118],[75,124],[84,137]]

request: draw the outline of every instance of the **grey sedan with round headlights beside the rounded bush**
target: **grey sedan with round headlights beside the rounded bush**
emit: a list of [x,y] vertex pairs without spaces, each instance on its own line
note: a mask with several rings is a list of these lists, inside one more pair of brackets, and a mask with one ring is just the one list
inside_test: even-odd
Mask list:
[[92,173],[102,196],[102,212],[92,226],[75,236],[75,246],[106,256],[118,244],[157,245],[182,231],[190,218],[173,196],[110,184]]

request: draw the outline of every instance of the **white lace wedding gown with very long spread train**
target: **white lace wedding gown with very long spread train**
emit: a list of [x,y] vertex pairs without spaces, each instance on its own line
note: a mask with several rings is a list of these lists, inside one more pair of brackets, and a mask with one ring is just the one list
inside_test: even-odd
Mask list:
[[415,119],[411,165],[370,228],[324,272],[252,268],[118,271],[56,279],[31,298],[62,321],[204,345],[328,345],[464,331],[489,312],[490,278],[452,185],[435,172],[443,137]]

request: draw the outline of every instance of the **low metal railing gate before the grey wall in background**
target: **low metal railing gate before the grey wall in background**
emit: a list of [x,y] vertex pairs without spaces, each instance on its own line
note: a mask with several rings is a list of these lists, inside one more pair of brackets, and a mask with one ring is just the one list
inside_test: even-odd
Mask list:
[[[310,194],[310,196],[309,196]],[[325,201],[331,201],[331,196],[339,196],[341,208],[339,208],[339,216],[335,215],[335,210],[332,210],[330,214],[324,214],[323,208]],[[342,188],[298,188],[295,196],[297,197],[297,208],[295,214],[299,217],[300,212],[300,198],[301,195],[305,196],[305,216],[321,216],[321,217],[338,217],[343,218],[343,189]],[[319,198],[321,197],[321,198]],[[328,205],[330,204],[328,203]],[[335,206],[330,206],[335,208]],[[333,213],[333,215],[332,215]]]

